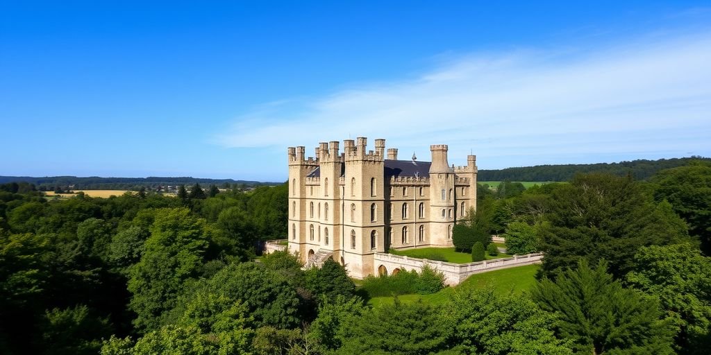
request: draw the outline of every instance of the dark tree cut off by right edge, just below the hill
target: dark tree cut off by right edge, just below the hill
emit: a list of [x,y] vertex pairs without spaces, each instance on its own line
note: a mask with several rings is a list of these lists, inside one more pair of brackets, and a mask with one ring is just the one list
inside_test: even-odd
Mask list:
[[689,225],[689,234],[699,239],[711,256],[711,165],[700,161],[662,170],[654,176],[654,197],[668,201]]

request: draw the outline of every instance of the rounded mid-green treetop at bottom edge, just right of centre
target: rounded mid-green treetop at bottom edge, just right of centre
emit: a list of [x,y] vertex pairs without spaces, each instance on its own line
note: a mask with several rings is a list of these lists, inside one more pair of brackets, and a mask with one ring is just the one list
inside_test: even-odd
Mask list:
[[434,354],[447,349],[451,334],[439,310],[420,302],[375,308],[348,327],[335,354]]

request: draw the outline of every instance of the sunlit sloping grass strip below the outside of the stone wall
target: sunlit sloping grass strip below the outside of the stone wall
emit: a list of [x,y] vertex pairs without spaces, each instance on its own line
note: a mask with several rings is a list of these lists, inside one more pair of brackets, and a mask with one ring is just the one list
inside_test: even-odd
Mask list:
[[[540,265],[534,264],[489,271],[488,273],[477,273],[469,276],[459,285],[444,288],[444,290],[432,295],[400,295],[397,296],[397,299],[402,303],[422,300],[422,302],[430,305],[442,305],[447,302],[447,298],[453,293],[471,288],[491,288],[498,295],[505,295],[509,292],[520,294],[533,287],[538,268],[540,268]],[[368,305],[379,307],[380,305],[392,304],[394,300],[395,297],[373,297],[368,301]]]

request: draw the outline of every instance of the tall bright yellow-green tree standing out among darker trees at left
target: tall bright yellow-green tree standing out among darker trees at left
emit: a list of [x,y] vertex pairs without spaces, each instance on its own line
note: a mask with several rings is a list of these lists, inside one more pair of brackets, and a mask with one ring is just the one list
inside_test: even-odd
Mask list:
[[141,261],[130,271],[130,307],[137,314],[139,329],[157,329],[161,317],[176,305],[187,280],[196,278],[208,247],[205,222],[186,208],[162,209],[156,213],[151,236]]

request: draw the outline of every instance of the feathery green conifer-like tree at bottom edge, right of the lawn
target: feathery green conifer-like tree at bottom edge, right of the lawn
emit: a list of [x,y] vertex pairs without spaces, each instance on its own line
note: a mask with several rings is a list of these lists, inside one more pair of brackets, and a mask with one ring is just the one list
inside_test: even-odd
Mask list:
[[542,310],[555,312],[558,334],[573,349],[589,354],[673,354],[674,327],[658,300],[623,288],[600,261],[594,269],[579,261],[555,281],[540,280],[531,290]]

